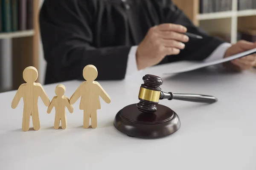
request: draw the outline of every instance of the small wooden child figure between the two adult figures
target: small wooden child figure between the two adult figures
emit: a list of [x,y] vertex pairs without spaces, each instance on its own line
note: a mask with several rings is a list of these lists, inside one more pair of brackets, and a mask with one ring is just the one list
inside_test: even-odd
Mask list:
[[55,107],[55,122],[54,122],[54,128],[58,129],[61,121],[61,128],[66,129],[67,128],[67,118],[66,118],[66,107],[70,111],[70,113],[73,113],[73,106],[70,105],[70,101],[67,96],[64,96],[64,93],[66,91],[66,88],[64,85],[57,85],[55,88],[55,94],[57,96],[54,96],[52,99],[52,102],[50,103],[47,113],[51,113],[52,108]]

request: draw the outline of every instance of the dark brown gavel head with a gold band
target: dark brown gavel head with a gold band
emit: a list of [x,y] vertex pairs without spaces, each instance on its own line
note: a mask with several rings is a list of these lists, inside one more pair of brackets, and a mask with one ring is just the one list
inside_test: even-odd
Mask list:
[[139,100],[137,108],[146,113],[154,113],[157,111],[157,104],[160,98],[163,80],[160,77],[146,74],[143,77],[144,84],[140,86]]

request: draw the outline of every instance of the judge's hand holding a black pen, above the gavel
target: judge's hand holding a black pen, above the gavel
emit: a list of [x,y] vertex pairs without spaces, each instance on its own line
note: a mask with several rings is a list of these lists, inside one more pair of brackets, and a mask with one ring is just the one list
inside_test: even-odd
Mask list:
[[150,28],[137,48],[138,70],[158,64],[167,55],[179,54],[180,49],[185,48],[182,42],[189,41],[189,37],[182,34],[186,31],[184,26],[169,23]]

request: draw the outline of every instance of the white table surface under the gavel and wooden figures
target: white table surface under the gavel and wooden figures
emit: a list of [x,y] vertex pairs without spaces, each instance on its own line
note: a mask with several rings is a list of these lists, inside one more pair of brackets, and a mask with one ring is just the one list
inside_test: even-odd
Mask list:
[[[116,113],[137,103],[142,77],[163,76],[157,66],[122,81],[99,81],[111,96],[101,99],[98,127],[84,129],[78,100],[67,114],[67,129],[55,130],[55,109],[38,100],[41,129],[23,132],[23,100],[11,108],[16,91],[0,94],[0,170],[256,170],[256,71],[239,74],[204,68],[162,77],[163,91],[213,95],[206,105],[161,100],[180,117],[181,127],[161,139],[128,137],[113,127]],[[170,69],[170,68],[169,68]],[[62,82],[71,96],[80,81]],[[44,85],[50,99],[55,86]]]

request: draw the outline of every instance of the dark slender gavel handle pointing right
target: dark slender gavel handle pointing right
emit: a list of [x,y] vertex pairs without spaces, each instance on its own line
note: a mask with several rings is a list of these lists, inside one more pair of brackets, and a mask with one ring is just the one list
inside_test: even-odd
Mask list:
[[183,100],[188,102],[201,102],[201,103],[214,103],[217,102],[218,99],[214,96],[207,96],[202,94],[173,94],[172,92],[166,93],[161,91],[160,100],[168,99],[168,100]]

